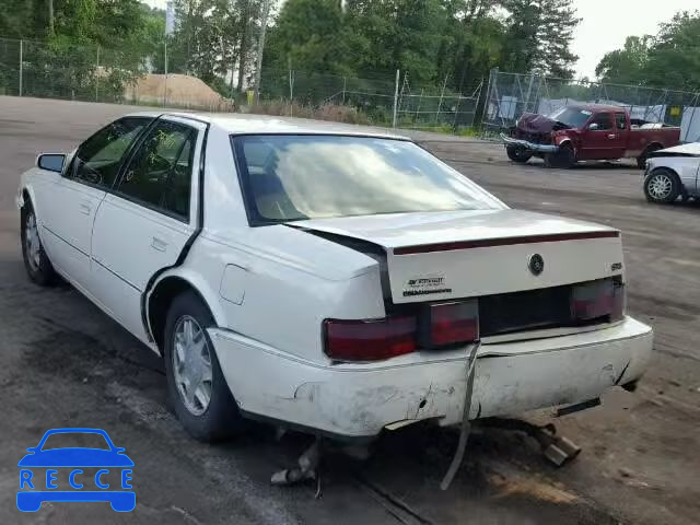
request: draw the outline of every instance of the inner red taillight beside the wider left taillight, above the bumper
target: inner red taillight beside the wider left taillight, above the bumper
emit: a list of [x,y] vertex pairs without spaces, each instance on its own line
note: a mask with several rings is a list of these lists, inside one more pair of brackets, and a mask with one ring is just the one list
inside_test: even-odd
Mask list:
[[477,301],[431,304],[421,317],[421,346],[444,347],[479,339]]

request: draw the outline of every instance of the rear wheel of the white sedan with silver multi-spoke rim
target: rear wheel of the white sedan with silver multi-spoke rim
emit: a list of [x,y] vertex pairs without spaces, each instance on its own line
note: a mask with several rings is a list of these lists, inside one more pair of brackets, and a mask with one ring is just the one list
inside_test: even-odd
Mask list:
[[163,338],[168,400],[185,430],[203,442],[225,440],[244,428],[206,330],[214,325],[199,295],[188,291],[171,304]]

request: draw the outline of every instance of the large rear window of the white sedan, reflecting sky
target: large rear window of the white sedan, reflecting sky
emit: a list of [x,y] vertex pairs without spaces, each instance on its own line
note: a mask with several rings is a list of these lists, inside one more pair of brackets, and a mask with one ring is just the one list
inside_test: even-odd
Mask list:
[[280,135],[233,143],[257,222],[503,206],[412,142]]

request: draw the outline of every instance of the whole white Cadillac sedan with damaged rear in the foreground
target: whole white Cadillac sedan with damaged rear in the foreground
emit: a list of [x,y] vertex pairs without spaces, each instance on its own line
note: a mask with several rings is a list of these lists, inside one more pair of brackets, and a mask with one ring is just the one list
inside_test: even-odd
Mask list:
[[18,207],[30,278],[60,275],[162,355],[201,440],[574,405],[652,351],[619,231],[509,209],[399,137],[135,114],[40,155]]

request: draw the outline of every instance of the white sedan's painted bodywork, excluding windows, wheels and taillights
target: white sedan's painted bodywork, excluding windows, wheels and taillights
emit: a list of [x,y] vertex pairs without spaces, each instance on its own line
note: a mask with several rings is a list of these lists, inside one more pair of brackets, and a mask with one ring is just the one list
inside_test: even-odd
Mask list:
[[[389,303],[625,279],[616,230],[512,210],[471,183],[492,209],[254,228],[231,136],[366,131],[225,115],[160,118],[197,132],[189,221],[38,167],[23,174],[18,206],[31,199],[56,270],[154,352],[161,353],[158,319],[170,291],[196,290],[215,320],[208,334],[246,416],[342,439],[370,439],[425,419],[459,423],[468,346],[339,362],[325,353],[324,320],[383,318]],[[385,256],[353,249],[348,240],[380,247]],[[540,275],[528,270],[533,254],[546,261]],[[425,292],[419,279],[428,279],[425,287],[438,283],[438,290]],[[597,398],[637,381],[652,343],[651,328],[628,316],[482,337],[469,417]]]

